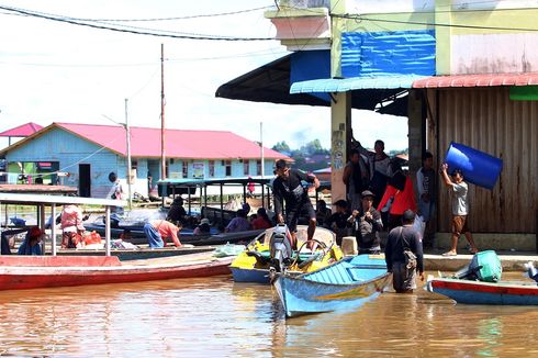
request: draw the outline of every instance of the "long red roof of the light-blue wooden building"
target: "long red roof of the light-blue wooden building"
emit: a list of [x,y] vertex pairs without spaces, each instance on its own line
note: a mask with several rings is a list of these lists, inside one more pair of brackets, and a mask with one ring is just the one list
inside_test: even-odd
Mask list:
[[[69,131],[85,139],[126,154],[126,136],[123,126],[91,125],[76,123],[53,123],[54,126]],[[166,130],[166,156],[188,159],[235,159],[259,158],[259,145],[237,134],[225,131]],[[131,127],[131,155],[133,157],[160,158],[160,128]],[[268,159],[290,159],[264,147]]]

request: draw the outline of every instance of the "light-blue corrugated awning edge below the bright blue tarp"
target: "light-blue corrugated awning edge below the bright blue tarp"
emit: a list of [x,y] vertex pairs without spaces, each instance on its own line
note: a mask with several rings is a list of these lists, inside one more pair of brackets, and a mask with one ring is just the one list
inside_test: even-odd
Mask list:
[[427,76],[392,75],[377,77],[326,78],[301,81],[291,85],[290,93],[347,92],[363,89],[408,89],[413,82]]

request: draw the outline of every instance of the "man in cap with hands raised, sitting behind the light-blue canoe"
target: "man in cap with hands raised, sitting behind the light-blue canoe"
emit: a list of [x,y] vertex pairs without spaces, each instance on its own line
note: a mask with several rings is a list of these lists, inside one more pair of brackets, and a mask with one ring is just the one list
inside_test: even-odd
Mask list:
[[365,190],[361,198],[361,208],[352,211],[349,221],[354,225],[359,254],[377,255],[381,253],[379,232],[383,230],[383,221],[379,211],[373,208],[373,193]]

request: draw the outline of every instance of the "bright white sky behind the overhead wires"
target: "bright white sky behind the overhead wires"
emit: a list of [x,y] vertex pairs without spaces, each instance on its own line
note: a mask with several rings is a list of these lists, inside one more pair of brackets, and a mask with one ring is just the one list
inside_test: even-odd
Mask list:
[[[91,19],[103,26],[242,38],[274,37],[274,26],[264,18],[273,5],[272,0],[0,0],[0,8]],[[253,9],[258,10],[246,11]],[[239,13],[213,15],[229,12]],[[171,20],[186,16],[192,18]],[[232,131],[262,138],[267,147],[284,141],[298,148],[316,138],[330,146],[329,108],[215,98],[221,85],[287,55],[278,41],[145,36],[5,9],[0,9],[0,132],[27,122],[114,124],[126,119],[133,126],[160,127],[162,44],[167,127]],[[386,150],[407,147],[406,119],[352,112],[355,136],[366,147],[378,138]],[[7,145],[0,138],[0,147]]]

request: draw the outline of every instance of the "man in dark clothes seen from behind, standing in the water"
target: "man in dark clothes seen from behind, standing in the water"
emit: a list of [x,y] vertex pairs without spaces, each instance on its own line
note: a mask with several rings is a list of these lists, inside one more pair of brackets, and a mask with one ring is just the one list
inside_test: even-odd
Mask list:
[[[424,281],[423,244],[421,234],[413,227],[415,212],[404,211],[402,226],[389,233],[384,256],[386,270],[392,272],[392,286],[396,293],[413,293],[416,289],[416,271]],[[414,259],[407,253],[411,251]]]

